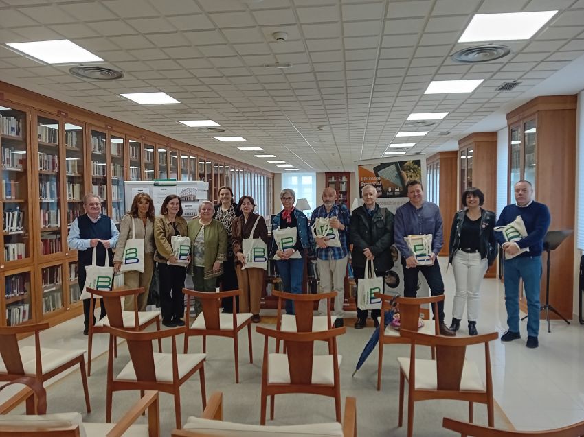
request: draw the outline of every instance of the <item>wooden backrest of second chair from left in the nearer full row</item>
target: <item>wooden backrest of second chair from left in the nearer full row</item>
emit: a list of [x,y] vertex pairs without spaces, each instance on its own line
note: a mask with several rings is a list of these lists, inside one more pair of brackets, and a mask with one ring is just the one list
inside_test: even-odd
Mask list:
[[[109,326],[104,326],[104,331],[114,337],[123,338],[128,344],[130,359],[134,366],[136,380],[142,382],[156,382],[156,370],[154,362],[153,340],[168,338],[172,340],[172,375],[178,379],[177,342],[176,336],[185,332],[184,328],[166,329],[164,331],[127,331]],[[108,377],[113,378],[113,337],[110,336],[110,348],[108,356]]]

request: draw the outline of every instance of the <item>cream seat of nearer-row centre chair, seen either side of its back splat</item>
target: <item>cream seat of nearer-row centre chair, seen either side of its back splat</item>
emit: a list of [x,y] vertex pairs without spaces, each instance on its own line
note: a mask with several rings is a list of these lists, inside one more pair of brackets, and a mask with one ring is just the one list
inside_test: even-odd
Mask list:
[[[337,355],[339,367],[342,355]],[[288,355],[285,353],[271,353],[268,355],[268,383],[289,384],[290,371]],[[313,373],[311,383],[323,386],[333,386],[335,373],[333,372],[333,355],[315,355],[313,357]]]

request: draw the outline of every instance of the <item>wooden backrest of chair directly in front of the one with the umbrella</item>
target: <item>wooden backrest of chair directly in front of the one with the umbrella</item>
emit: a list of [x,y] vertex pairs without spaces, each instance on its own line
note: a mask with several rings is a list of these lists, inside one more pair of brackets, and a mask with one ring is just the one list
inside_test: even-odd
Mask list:
[[499,338],[496,332],[475,335],[473,337],[443,337],[440,335],[427,335],[418,332],[400,329],[403,337],[412,342],[410,347],[410,373],[413,381],[415,378],[416,344],[433,346],[436,348],[436,377],[438,390],[460,391],[462,381],[462,368],[467,353],[467,346],[484,343],[485,370],[487,387],[492,386],[491,380],[491,355],[488,342]]

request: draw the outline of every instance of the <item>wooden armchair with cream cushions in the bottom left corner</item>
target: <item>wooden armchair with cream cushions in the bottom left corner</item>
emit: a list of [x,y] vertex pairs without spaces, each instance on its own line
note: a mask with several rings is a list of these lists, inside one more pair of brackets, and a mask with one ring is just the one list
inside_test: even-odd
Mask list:
[[[27,387],[0,405],[0,435],[2,437],[122,437],[126,432],[132,435],[160,436],[158,392],[147,391],[144,397],[132,406],[118,423],[82,423],[81,414],[45,414],[47,410],[46,392],[42,384],[34,378],[19,378],[11,383],[21,383]],[[30,414],[30,401],[39,414]],[[27,414],[5,414],[23,401],[27,403]],[[135,425],[137,418],[148,411],[148,425]],[[127,435],[127,434],[126,434]]]

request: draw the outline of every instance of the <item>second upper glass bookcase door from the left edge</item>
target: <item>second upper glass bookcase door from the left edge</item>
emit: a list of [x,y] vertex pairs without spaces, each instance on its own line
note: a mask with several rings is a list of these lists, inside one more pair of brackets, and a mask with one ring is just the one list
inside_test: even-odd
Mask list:
[[36,119],[36,134],[41,255],[51,255],[63,251],[59,121],[39,115]]

